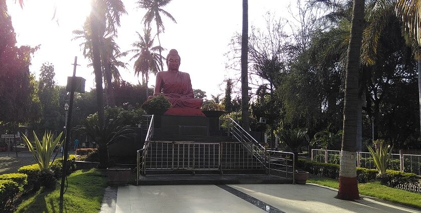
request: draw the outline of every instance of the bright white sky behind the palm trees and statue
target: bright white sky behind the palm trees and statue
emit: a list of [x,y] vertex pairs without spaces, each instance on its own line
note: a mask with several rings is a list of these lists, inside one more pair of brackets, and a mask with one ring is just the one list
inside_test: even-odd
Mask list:
[[[136,0],[122,0],[127,15],[121,17],[116,43],[121,52],[132,49],[132,43],[138,40],[136,32],[143,35],[142,18],[146,10],[137,8]],[[12,24],[17,34],[18,46],[41,45],[31,62],[30,70],[36,76],[43,63],[52,63],[55,67],[55,80],[58,85],[66,85],[67,76],[73,72],[75,56],[78,57],[76,75],[86,79],[86,90],[94,87],[93,68],[87,67],[89,60],[83,57],[79,44],[71,41],[73,30],[82,30],[89,15],[88,0],[43,0],[25,1],[22,9],[13,0],[7,1]],[[287,8],[295,5],[295,0],[249,0],[249,29],[251,26],[265,28],[266,13],[275,17],[289,16]],[[52,20],[54,8],[56,18]],[[165,32],[159,35],[161,46],[166,50],[176,49],[181,57],[179,70],[190,74],[193,89],[201,89],[210,95],[224,93],[224,79],[233,77],[236,71],[226,68],[230,41],[236,32],[242,29],[241,0],[173,0],[163,10],[170,13],[176,24],[163,18]],[[153,25],[152,25],[153,26]],[[250,31],[250,30],[249,30]],[[152,32],[156,32],[153,28]],[[155,39],[158,45],[157,39]],[[131,56],[121,58],[129,63],[127,69],[120,68],[122,79],[133,84],[141,82],[133,71]],[[166,70],[166,67],[164,67]],[[148,86],[155,85],[155,76],[149,77]]]

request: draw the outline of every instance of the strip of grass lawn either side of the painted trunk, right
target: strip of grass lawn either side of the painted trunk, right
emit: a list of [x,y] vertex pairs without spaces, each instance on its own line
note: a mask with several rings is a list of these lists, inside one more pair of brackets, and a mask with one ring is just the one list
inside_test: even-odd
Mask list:
[[[336,179],[327,177],[311,177],[307,182],[338,188]],[[362,195],[381,198],[421,209],[421,194],[381,185],[379,182],[358,183],[359,193]]]

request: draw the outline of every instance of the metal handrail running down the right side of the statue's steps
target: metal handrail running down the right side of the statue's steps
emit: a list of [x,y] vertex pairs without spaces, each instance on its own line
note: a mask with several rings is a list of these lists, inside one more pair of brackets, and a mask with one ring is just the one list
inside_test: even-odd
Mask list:
[[267,174],[285,174],[286,179],[292,179],[295,183],[294,153],[266,149],[232,118],[222,119],[220,125],[228,136],[238,140],[253,155]]

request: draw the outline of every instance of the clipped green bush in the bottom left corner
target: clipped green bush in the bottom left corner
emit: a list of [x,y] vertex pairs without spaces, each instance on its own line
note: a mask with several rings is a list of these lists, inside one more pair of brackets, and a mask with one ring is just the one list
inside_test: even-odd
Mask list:
[[10,212],[19,193],[19,184],[13,180],[0,180],[0,212]]

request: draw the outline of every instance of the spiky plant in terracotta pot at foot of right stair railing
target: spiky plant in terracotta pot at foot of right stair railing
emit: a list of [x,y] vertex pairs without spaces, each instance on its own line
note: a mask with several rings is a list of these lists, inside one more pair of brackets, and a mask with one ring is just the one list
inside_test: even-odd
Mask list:
[[[296,168],[296,164],[298,162],[298,149],[307,137],[307,130],[299,128],[280,128],[276,133],[279,140],[287,144],[287,146],[291,148],[292,153],[294,153],[294,168]],[[294,179],[296,183],[305,184],[308,179],[308,172],[296,169],[294,171]]]

